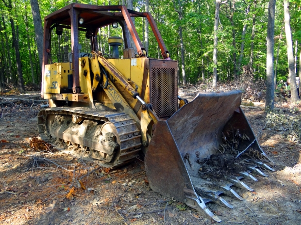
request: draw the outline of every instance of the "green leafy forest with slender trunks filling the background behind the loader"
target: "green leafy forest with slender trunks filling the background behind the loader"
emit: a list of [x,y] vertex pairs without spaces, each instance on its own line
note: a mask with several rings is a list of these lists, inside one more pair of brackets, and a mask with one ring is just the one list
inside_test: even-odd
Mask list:
[[[24,84],[41,81],[41,67],[33,23],[31,2],[36,0],[1,0],[0,2],[0,86],[21,89]],[[146,3],[147,1],[147,3]],[[212,81],[214,72],[214,23],[220,0],[39,0],[42,26],[44,17],[72,2],[116,5],[126,4],[136,11],[148,11],[154,17],[173,60],[179,62],[179,84]],[[217,80],[239,79],[250,71],[253,80],[266,80],[268,0],[228,0],[220,4],[217,45]],[[133,5],[133,6],[132,6]],[[300,1],[290,1],[295,71],[301,56]],[[135,19],[144,45],[149,45],[151,58],[161,52],[152,32],[146,39],[145,20]],[[151,29],[150,29],[151,30]],[[115,33],[114,33],[115,32]],[[99,40],[121,36],[111,28],[102,29]],[[14,42],[15,41],[15,42]],[[146,43],[148,42],[148,43]],[[110,53],[108,44],[101,51]],[[122,50],[122,49],[120,49]],[[16,57],[19,51],[20,59]],[[300,52],[300,53],[298,53]],[[183,57],[182,57],[183,56]],[[182,58],[181,58],[182,57]],[[301,59],[301,57],[300,57]],[[276,1],[274,26],[274,74],[277,80],[288,76],[287,49],[284,32],[284,1]],[[298,73],[297,73],[298,74]],[[20,79],[20,76],[22,79]]]

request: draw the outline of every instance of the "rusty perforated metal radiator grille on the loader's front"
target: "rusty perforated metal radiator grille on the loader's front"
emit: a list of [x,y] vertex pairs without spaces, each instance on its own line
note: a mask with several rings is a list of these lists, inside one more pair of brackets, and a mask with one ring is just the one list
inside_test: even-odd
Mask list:
[[171,116],[177,111],[177,72],[174,68],[151,67],[151,104],[157,116]]

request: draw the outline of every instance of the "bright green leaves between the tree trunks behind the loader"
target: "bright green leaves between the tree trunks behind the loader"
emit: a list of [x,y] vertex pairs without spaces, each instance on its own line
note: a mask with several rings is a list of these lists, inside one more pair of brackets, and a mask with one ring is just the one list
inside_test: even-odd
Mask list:
[[[8,0],[4,0],[8,2]],[[50,13],[65,7],[72,3],[86,3],[98,5],[121,4],[121,0],[40,0],[40,13],[43,18]],[[179,8],[179,2],[183,6],[182,19],[179,19],[175,8]],[[6,28],[3,29],[3,21],[0,19],[2,30],[0,31],[0,42],[5,43],[4,33],[7,34],[8,46],[12,46],[12,34],[10,27],[10,18],[12,17],[19,32],[19,46],[21,52],[22,71],[25,83],[32,82],[31,66],[29,61],[29,48],[27,37],[30,37],[30,50],[33,55],[34,76],[40,81],[40,68],[37,57],[37,49],[34,39],[33,17],[31,13],[30,0],[13,0],[13,10],[10,12],[4,4],[0,6],[1,15],[4,18]],[[246,15],[246,6],[250,6],[250,12]],[[274,57],[278,44],[279,60],[277,64],[277,80],[286,80],[287,76],[287,56],[286,40],[284,32],[284,9],[283,2],[276,2],[275,16],[275,47]],[[299,10],[299,1],[293,2],[290,7],[291,12],[291,29],[294,42],[297,40],[301,43],[301,11]],[[134,10],[144,11],[145,1],[134,0]],[[214,38],[214,14],[215,1],[187,1],[187,0],[150,0],[150,12],[158,26],[168,51],[171,53],[173,60],[179,62],[179,73],[181,73],[181,50],[179,26],[183,28],[184,40],[184,59],[185,72],[188,83],[195,83],[202,80],[202,72],[205,79],[209,79],[213,73],[213,38]],[[255,80],[266,78],[266,37],[267,37],[267,20],[268,20],[268,1],[257,1],[256,7],[253,0],[234,1],[228,0],[227,3],[220,6],[219,27],[218,27],[218,45],[217,45],[217,74],[221,81],[234,79],[234,61],[236,64],[239,59],[240,47],[242,43],[241,34],[244,24],[247,25],[247,31],[244,38],[244,49],[242,54],[241,66],[250,64],[251,46],[253,44],[253,73]],[[11,16],[13,15],[13,16]],[[27,15],[28,25],[26,24],[25,15]],[[252,22],[255,16],[254,39],[252,40]],[[144,43],[144,18],[135,18],[135,25],[141,42]],[[158,43],[149,27],[149,57],[162,58],[161,51],[158,49]],[[281,35],[281,39],[279,39]],[[100,30],[99,40],[106,42],[109,35],[109,29]],[[121,28],[110,29],[110,36],[122,36]],[[235,46],[234,46],[235,43]],[[109,46],[102,46],[104,52],[109,52]],[[122,53],[122,48],[119,48]],[[300,49],[298,49],[298,52]],[[9,54],[12,59],[12,69],[14,82],[17,82],[17,68],[15,63],[15,52],[9,48]],[[236,59],[234,55],[236,54]],[[298,53],[299,56],[299,53]],[[0,67],[4,72],[4,81],[7,80],[8,52],[5,45],[0,45]],[[238,69],[238,77],[242,74],[242,68]]]

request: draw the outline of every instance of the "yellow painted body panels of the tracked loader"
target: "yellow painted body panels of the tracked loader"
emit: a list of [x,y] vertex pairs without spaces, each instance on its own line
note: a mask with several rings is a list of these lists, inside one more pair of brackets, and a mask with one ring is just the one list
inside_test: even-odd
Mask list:
[[[93,96],[91,90],[91,80],[89,76],[85,76],[84,70],[87,74],[91,73],[90,66],[82,66],[83,60],[92,64],[93,61],[91,58],[82,57],[79,58],[80,62],[80,85],[82,92],[80,94],[72,94],[71,89],[68,89],[68,75],[72,75],[72,70],[70,69],[69,63],[54,63],[45,65],[45,82],[44,82],[44,99],[50,100],[67,100],[75,102],[84,102],[87,103],[88,100],[86,96],[90,96],[90,103],[93,103]],[[126,80],[133,86],[136,92],[139,95],[142,94],[142,82],[143,76],[147,73],[145,95],[144,101],[150,103],[150,67],[148,58],[132,58],[132,59],[108,59],[108,62],[112,64],[120,73],[124,76]],[[174,62],[174,61],[173,61]],[[72,65],[72,64],[71,64]],[[70,83],[70,81],[69,81]],[[117,82],[113,82],[120,92],[120,94],[125,98],[128,104],[134,109],[137,99],[134,99],[132,96],[127,94],[125,90]],[[57,95],[59,94],[59,95]],[[80,97],[79,97],[80,96]],[[85,97],[84,97],[85,96]],[[99,91],[97,95],[94,96],[95,100],[99,101],[105,106],[115,109],[114,103],[110,100],[108,95],[102,90]],[[53,104],[53,103],[52,103]],[[77,103],[78,105],[78,103]],[[72,104],[71,104],[72,106]],[[92,107],[92,104],[90,104]]]

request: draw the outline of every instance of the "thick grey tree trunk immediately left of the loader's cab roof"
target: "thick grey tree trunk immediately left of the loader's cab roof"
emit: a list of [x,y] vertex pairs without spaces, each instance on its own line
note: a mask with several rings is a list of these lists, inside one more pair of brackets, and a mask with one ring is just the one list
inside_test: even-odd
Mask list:
[[42,71],[42,62],[43,62],[43,27],[42,20],[40,15],[40,8],[38,0],[30,0],[32,6],[32,14],[33,14],[33,25],[34,25],[34,33],[35,33],[35,41],[39,55],[39,63],[40,63],[40,71]]

